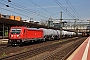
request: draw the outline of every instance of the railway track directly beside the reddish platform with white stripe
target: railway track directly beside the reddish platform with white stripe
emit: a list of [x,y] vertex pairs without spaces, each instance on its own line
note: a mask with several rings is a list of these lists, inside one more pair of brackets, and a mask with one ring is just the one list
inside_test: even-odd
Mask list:
[[84,42],[86,38],[81,38],[78,41],[66,45],[62,49],[56,50],[46,56],[42,60],[66,60],[80,45]]

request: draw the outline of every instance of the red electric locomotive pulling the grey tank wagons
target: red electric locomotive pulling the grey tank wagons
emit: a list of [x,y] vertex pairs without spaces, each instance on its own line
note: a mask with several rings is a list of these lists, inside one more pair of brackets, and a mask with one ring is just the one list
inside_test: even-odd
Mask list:
[[42,29],[15,26],[10,29],[8,43],[22,45],[28,41],[42,40],[44,39],[43,37]]

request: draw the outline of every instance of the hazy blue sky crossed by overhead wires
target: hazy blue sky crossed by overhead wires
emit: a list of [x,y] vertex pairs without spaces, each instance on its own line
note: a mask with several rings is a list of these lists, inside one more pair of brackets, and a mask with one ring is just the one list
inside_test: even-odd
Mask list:
[[[9,7],[6,7],[9,5]],[[60,19],[90,20],[90,0],[0,0],[0,13],[35,21]],[[73,20],[72,20],[73,21]]]

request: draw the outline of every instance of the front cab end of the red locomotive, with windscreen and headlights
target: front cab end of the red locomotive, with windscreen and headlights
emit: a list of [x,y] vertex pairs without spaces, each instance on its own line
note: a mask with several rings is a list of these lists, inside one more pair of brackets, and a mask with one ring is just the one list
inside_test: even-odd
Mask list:
[[20,44],[22,42],[22,35],[23,35],[23,28],[22,27],[11,27],[9,31],[9,44]]

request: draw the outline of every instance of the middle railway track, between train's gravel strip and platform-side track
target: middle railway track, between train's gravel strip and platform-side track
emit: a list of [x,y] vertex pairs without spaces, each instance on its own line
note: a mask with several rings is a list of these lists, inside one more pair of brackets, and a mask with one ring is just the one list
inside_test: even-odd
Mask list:
[[[77,39],[79,39],[79,38],[77,38]],[[15,60],[19,60],[19,59],[23,60],[23,59],[28,59],[28,58],[34,57],[34,56],[36,56],[38,54],[42,54],[44,52],[49,52],[50,53],[50,51],[56,50],[58,47],[63,47],[64,44],[67,44],[70,41],[76,41],[77,39],[68,40],[68,41],[65,41],[65,42],[52,43],[52,44],[45,45],[45,46],[42,46],[42,47],[39,47],[39,48],[24,51],[22,53],[17,53],[17,54],[13,54],[13,55],[10,55],[10,56],[6,56],[6,57],[3,57],[1,59],[2,60],[14,60],[14,59]],[[64,48],[60,48],[60,51],[63,50],[63,49]],[[53,53],[53,54],[55,54],[55,53]],[[49,56],[49,55],[46,54],[46,56]],[[47,60],[46,56],[44,57],[44,59]]]

